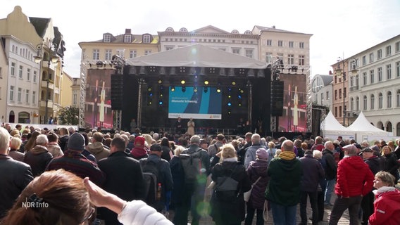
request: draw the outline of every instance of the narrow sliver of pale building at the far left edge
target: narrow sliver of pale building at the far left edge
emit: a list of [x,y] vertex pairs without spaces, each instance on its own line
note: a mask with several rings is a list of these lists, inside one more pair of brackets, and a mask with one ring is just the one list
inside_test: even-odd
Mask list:
[[8,86],[8,60],[6,51],[0,39],[0,126],[6,121],[7,86]]

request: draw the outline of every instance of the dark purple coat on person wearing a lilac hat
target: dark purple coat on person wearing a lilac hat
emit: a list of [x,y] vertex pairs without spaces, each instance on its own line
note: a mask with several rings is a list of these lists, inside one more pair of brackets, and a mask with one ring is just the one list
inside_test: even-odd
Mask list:
[[256,161],[251,161],[249,167],[247,168],[247,174],[249,174],[249,179],[251,184],[254,184],[256,180],[257,184],[253,186],[251,191],[251,196],[249,200],[249,205],[254,209],[262,210],[265,202],[265,188],[267,188],[268,181],[270,177],[267,175],[268,160],[256,159]]

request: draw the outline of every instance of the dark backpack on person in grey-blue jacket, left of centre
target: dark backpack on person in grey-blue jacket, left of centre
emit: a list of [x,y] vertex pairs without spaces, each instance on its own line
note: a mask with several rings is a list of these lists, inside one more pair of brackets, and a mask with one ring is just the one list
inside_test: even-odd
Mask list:
[[163,204],[160,200],[157,200],[157,188],[158,183],[163,184],[160,177],[160,163],[154,161],[149,161],[147,159],[140,160],[143,171],[143,181],[144,181],[144,202],[147,205],[151,205],[158,212],[163,210]]

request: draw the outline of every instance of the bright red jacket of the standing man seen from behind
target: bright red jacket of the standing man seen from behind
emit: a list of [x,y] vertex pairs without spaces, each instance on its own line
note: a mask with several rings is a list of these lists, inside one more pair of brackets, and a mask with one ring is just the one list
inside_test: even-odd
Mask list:
[[373,172],[358,155],[345,157],[337,166],[335,193],[343,197],[365,196],[372,190],[373,180]]

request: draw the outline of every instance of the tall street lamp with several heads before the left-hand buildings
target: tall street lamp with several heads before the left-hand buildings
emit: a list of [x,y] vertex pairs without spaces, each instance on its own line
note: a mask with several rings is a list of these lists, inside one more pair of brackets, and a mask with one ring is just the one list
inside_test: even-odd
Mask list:
[[[48,122],[48,114],[49,114],[49,79],[50,79],[50,65],[51,63],[58,63],[58,56],[56,53],[57,46],[54,43],[51,43],[49,48],[44,51],[48,53],[47,58],[42,57],[42,49],[44,46],[44,43],[38,44],[36,46],[37,49],[37,56],[34,56],[35,58],[35,63],[40,63],[41,61],[47,62],[47,77],[46,77],[46,108],[45,113],[44,113],[44,124]],[[42,69],[42,65],[40,66]],[[55,76],[55,75],[54,75]]]

